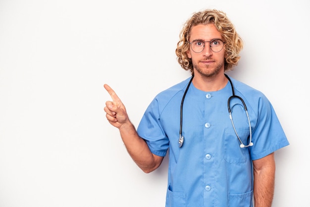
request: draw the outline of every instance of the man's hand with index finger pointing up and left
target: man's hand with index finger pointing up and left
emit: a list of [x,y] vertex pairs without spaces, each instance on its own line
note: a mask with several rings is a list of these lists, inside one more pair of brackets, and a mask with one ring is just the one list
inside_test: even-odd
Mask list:
[[129,121],[126,108],[108,85],[104,84],[104,88],[112,98],[112,102],[107,101],[105,103],[104,111],[106,112],[106,119],[112,126],[120,128],[124,123]]

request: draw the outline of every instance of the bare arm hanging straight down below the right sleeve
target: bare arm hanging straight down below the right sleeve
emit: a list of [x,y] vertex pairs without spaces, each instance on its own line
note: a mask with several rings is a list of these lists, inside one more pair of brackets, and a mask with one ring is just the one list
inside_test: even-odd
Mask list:
[[271,207],[274,193],[274,153],[253,160],[255,207]]

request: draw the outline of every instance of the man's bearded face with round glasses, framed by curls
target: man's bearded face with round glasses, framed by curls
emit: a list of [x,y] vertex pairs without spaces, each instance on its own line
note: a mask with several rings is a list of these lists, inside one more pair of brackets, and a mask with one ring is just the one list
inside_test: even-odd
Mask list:
[[[214,39],[223,40],[221,33],[218,32],[214,24],[196,25],[190,32],[190,42],[194,40],[211,41]],[[190,49],[187,51],[189,58],[192,58],[194,74],[204,77],[215,77],[220,72],[224,72],[225,49],[220,52],[213,52],[208,42],[202,52],[196,53]]]

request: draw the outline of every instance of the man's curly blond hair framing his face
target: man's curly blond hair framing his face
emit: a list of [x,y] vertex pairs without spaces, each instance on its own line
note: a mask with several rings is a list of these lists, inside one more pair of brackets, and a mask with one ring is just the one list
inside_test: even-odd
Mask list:
[[237,65],[240,56],[239,53],[243,49],[243,41],[237,34],[234,25],[227,18],[226,14],[216,9],[206,9],[196,12],[188,19],[180,32],[180,41],[177,44],[175,53],[181,67],[194,73],[192,59],[187,56],[190,48],[188,44],[192,27],[200,24],[214,24],[217,31],[222,34],[225,42],[225,61],[224,70],[230,70]]

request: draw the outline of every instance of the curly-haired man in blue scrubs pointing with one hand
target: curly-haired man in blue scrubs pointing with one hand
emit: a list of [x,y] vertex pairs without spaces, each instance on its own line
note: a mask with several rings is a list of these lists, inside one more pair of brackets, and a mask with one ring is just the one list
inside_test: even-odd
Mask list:
[[224,73],[242,48],[225,13],[193,14],[176,49],[192,77],[159,93],[137,131],[104,85],[113,101],[106,102],[106,118],[144,172],[169,149],[166,207],[253,207],[253,196],[255,207],[271,207],[274,151],[289,143],[267,98]]

